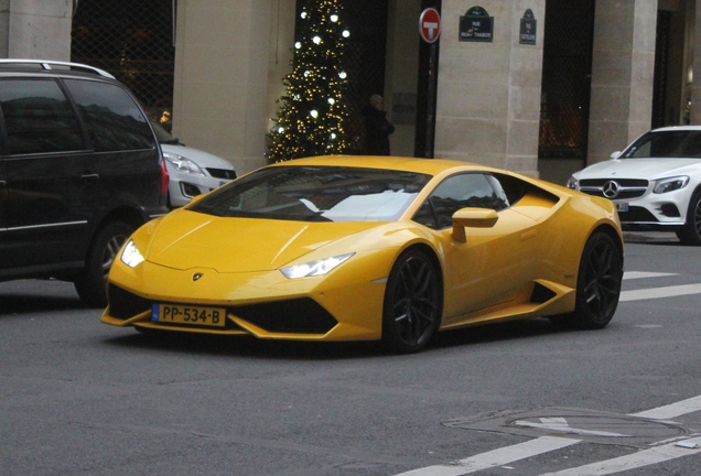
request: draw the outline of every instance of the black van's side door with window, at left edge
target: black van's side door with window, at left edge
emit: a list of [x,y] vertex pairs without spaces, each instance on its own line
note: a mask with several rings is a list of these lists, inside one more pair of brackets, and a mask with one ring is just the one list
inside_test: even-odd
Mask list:
[[[97,197],[74,109],[53,78],[3,78],[4,226],[0,270],[82,266],[80,237]],[[67,264],[67,266],[66,266]]]

